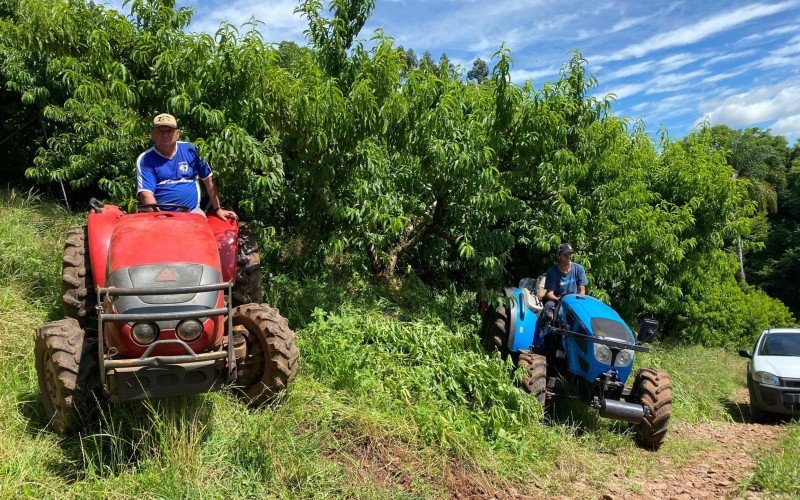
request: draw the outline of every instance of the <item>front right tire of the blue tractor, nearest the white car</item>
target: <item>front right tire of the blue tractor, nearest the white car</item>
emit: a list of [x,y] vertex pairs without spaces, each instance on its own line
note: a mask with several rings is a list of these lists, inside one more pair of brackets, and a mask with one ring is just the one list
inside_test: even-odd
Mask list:
[[636,426],[636,444],[657,450],[664,443],[672,413],[672,381],[667,372],[642,368],[636,373],[628,398],[647,410],[645,419]]

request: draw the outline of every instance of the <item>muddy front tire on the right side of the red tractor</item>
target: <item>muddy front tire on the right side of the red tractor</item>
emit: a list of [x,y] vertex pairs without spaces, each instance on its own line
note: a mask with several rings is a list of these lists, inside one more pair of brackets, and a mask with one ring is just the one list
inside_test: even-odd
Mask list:
[[239,361],[239,395],[261,406],[286,389],[299,366],[295,334],[278,309],[245,304],[233,309],[233,325],[243,326],[247,354]]

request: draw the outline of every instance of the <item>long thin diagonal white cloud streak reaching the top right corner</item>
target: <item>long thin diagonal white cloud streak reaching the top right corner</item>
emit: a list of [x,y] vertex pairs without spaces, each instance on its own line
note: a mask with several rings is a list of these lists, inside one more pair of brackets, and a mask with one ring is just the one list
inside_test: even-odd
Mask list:
[[619,61],[642,57],[656,50],[689,45],[748,21],[776,14],[796,5],[798,5],[797,1],[782,2],[773,5],[747,5],[731,12],[719,14],[689,26],[684,26],[683,28],[667,33],[659,33],[642,43],[629,45],[611,55],[600,56],[598,59],[602,61]]

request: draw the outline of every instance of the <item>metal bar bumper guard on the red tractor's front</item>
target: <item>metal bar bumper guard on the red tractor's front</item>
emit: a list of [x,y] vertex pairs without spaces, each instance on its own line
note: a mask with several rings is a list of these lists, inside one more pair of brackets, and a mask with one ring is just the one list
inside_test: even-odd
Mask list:
[[[192,350],[192,348],[184,341],[179,339],[165,339],[165,340],[157,340],[150,344],[145,352],[138,358],[127,358],[127,359],[113,359],[113,354],[107,354],[105,349],[105,335],[104,335],[104,328],[103,325],[105,323],[110,322],[132,322],[132,321],[162,321],[162,320],[178,320],[178,319],[193,319],[193,318],[208,318],[214,316],[223,316],[227,315],[227,332],[228,335],[231,335],[233,332],[233,318],[231,314],[231,299],[232,299],[232,288],[233,285],[231,283],[214,283],[210,285],[194,285],[194,286],[175,286],[175,287],[137,287],[137,288],[99,288],[97,290],[97,339],[98,339],[98,362],[100,365],[100,380],[103,384],[103,388],[108,391],[109,390],[109,381],[107,372],[108,370],[115,370],[118,371],[118,374],[121,378],[127,381],[127,384],[114,384],[114,392],[122,396],[122,399],[141,399],[142,397],[148,396],[168,396],[168,395],[175,395],[179,393],[185,392],[202,392],[204,389],[212,388],[214,384],[214,377],[209,377],[213,371],[213,367],[216,363],[220,360],[227,360],[227,381],[228,382],[235,382],[237,373],[236,373],[236,357],[234,355],[234,346],[231,339],[228,339],[228,348],[225,351],[216,351],[216,352],[203,352],[203,353],[196,353]],[[104,299],[106,297],[120,297],[120,296],[131,296],[131,295],[180,295],[185,293],[202,293],[202,292],[214,292],[214,291],[224,291],[225,292],[225,307],[217,308],[217,309],[203,309],[199,311],[182,311],[182,312],[160,312],[160,313],[131,313],[131,314],[112,314],[106,313],[104,307]],[[179,354],[179,355],[171,355],[171,356],[151,356],[153,350],[158,346],[164,345],[179,345],[181,346],[186,353]],[[204,373],[206,375],[206,379],[208,379],[205,383],[200,383],[196,385],[194,389],[190,386],[184,386],[182,382],[184,380],[178,380],[173,386],[179,386],[178,389],[167,388],[164,390],[159,390],[157,388],[153,388],[148,390],[146,387],[149,385],[149,379],[139,378],[137,375],[137,371],[140,368],[149,367],[151,369],[155,369],[155,367],[163,368],[165,373],[161,373],[159,376],[154,377],[154,379],[158,382],[158,380],[170,380],[174,381],[175,377],[183,377],[185,379],[191,379],[191,373]],[[158,369],[155,369],[158,372]],[[190,374],[188,377],[185,377],[185,374]],[[166,377],[166,378],[164,378]],[[147,380],[147,381],[146,381]],[[139,386],[138,389],[133,388],[133,382],[137,382],[136,385]],[[127,390],[121,390],[123,386],[130,386]],[[183,389],[186,388],[187,390],[184,391]],[[138,393],[137,393],[138,390]],[[123,394],[123,392],[125,394]]]

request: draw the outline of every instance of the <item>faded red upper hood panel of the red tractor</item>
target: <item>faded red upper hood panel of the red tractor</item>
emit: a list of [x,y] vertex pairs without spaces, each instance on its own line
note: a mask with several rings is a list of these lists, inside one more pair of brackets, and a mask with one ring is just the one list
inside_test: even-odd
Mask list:
[[114,228],[107,275],[130,266],[191,263],[220,269],[219,249],[200,214],[151,212],[123,217]]

